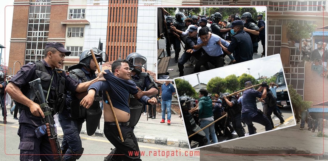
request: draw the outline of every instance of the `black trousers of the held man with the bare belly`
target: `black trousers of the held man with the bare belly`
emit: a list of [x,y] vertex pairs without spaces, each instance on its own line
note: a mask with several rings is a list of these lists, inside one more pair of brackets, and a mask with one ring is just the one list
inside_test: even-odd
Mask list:
[[134,153],[139,152],[139,146],[132,128],[129,126],[120,126],[124,139],[124,142],[122,142],[116,125],[109,124],[109,122],[104,122],[104,134],[106,138],[115,146],[118,154],[124,154],[116,155],[117,157],[115,157],[115,160],[141,160],[140,154],[136,156]]

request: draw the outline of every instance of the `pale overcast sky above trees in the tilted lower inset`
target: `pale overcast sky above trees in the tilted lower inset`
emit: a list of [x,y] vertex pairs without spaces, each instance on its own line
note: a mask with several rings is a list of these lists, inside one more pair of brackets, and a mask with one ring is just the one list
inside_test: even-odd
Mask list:
[[[248,68],[250,70],[248,70]],[[221,67],[219,69],[212,69],[200,72],[199,82],[207,84],[208,81],[216,76],[225,78],[228,75],[235,74],[236,76],[240,76],[243,73],[251,73],[251,75],[257,79],[258,73],[260,76],[271,77],[275,75],[279,70],[282,69],[282,63],[280,59],[280,54],[275,54],[272,56],[267,56],[263,58],[258,58],[255,60],[250,60],[243,63],[237,63],[234,65],[229,65],[225,67]],[[192,86],[198,84],[197,75],[191,74],[183,77],[178,77],[181,79],[188,80]]]

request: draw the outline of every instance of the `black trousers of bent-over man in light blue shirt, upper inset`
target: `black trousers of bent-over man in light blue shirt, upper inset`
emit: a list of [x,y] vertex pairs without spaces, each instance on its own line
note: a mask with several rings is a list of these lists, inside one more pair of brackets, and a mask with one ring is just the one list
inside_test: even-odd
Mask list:
[[200,72],[200,67],[202,65],[205,65],[207,62],[211,62],[211,60],[214,60],[215,64],[215,68],[219,68],[219,67],[223,67],[223,55],[219,55],[219,56],[210,56],[207,53],[204,53],[202,55],[202,57],[200,58],[200,60],[197,62],[194,72],[198,73]]

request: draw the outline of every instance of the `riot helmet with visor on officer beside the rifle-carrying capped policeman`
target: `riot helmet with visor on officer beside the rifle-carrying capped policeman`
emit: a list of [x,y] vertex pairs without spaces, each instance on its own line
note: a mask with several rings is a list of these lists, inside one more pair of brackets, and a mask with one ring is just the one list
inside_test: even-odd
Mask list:
[[[106,56],[106,53],[104,51],[101,51],[97,48],[93,48],[92,50],[93,50],[94,56],[96,57],[98,63],[101,61],[104,61],[103,56]],[[87,69],[90,69],[91,59],[92,59],[91,50],[84,50],[80,55],[79,64],[82,64]]]

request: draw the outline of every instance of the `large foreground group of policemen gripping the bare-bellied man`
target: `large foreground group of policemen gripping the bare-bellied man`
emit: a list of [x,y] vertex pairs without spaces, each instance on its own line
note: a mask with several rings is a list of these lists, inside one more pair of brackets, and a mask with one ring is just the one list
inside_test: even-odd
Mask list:
[[[128,154],[128,151],[139,151],[133,129],[144,111],[144,105],[156,105],[159,94],[152,76],[142,71],[142,68],[147,71],[147,59],[139,53],[131,53],[126,59],[114,61],[111,71],[96,74],[97,62],[105,61],[106,53],[92,48],[81,53],[79,63],[71,66],[67,74],[60,67],[71,51],[66,50],[63,44],[48,42],[44,54],[45,58],[41,61],[22,66],[9,78],[8,84],[5,75],[0,72],[4,122],[7,116],[4,91],[15,100],[15,110],[12,111],[19,111],[19,118],[17,113],[14,117],[19,122],[20,160],[79,159],[84,151],[79,135],[82,124],[86,122],[87,134],[92,135],[102,112],[104,134],[115,147],[105,160],[141,160],[138,154]],[[38,79],[41,87],[35,92],[29,82]],[[155,117],[155,113],[154,109],[152,116]],[[60,147],[57,134],[49,130],[55,125],[50,124],[51,121],[46,124],[46,119],[53,119],[55,114],[64,133]],[[168,124],[169,119],[168,116]]]

